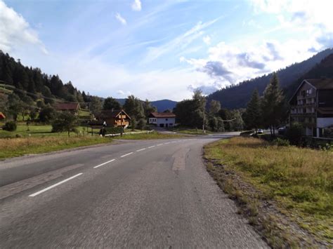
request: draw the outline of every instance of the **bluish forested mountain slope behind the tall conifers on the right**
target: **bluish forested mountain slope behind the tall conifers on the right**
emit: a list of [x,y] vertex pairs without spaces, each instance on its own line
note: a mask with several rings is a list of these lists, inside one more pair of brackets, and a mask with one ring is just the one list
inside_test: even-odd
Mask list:
[[[294,63],[285,69],[280,69],[278,77],[282,88],[288,88],[295,81],[300,79],[306,72],[315,67],[321,60],[333,53],[332,48],[328,48],[325,51],[321,51],[308,60],[303,62]],[[211,100],[218,100],[221,102],[221,106],[227,109],[244,108],[249,102],[252,92],[255,88],[259,90],[259,94],[263,93],[268,85],[272,74],[265,74],[261,77],[250,79],[248,81],[242,81],[235,86],[228,86],[221,90],[217,90],[207,96],[207,103]]]

